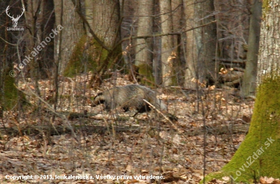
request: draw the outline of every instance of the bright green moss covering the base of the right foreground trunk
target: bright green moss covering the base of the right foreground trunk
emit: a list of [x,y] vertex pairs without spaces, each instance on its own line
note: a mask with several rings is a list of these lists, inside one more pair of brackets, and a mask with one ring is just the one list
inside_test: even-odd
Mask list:
[[[280,78],[267,79],[258,88],[249,132],[232,160],[206,181],[232,176],[253,183],[260,176],[280,177]],[[268,140],[271,137],[272,143]]]

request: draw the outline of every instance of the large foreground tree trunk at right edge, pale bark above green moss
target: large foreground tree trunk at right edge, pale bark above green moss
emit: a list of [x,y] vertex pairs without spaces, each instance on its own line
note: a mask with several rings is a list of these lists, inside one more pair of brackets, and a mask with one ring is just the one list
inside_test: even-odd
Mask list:
[[263,1],[258,90],[249,132],[232,160],[206,180],[228,176],[256,182],[260,176],[280,178],[280,0]]

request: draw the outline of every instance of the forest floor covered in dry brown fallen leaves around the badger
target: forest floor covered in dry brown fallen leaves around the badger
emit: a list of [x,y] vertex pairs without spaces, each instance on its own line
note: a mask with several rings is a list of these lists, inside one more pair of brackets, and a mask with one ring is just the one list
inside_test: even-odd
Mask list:
[[[132,118],[135,112],[107,113],[103,105],[91,107],[98,92],[131,84],[126,78],[105,80],[97,90],[88,87],[90,76],[61,78],[57,112],[82,115],[87,110],[87,116],[68,116],[68,120],[53,116],[44,103],[52,105],[50,81],[39,81],[40,101],[33,81],[19,82],[30,105],[4,112],[0,183],[199,183],[204,168],[205,174],[221,169],[244,140],[254,101],[226,91],[205,90],[198,100],[195,91],[157,89],[178,122],[167,121],[154,111]],[[67,122],[75,127],[73,133],[54,135],[42,128],[66,127]],[[26,127],[38,132],[22,131]],[[97,127],[104,131],[96,131]],[[14,133],[5,133],[6,129]],[[25,180],[27,175],[32,179]],[[230,183],[230,178],[212,183]]]

